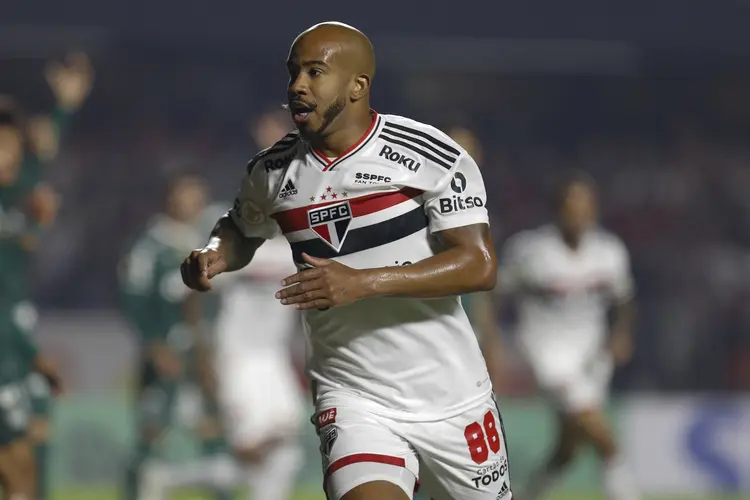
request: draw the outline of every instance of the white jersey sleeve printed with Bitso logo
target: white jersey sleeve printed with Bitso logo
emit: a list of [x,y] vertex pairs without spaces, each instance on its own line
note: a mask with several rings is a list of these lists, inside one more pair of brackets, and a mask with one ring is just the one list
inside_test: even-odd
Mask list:
[[466,152],[459,156],[435,189],[425,192],[424,196],[432,233],[471,224],[489,225],[482,173]]

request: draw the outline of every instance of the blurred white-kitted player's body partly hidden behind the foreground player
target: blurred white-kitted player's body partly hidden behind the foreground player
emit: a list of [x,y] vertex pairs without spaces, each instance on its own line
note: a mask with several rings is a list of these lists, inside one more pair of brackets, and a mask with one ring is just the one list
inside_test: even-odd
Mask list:
[[302,465],[298,443],[303,400],[291,365],[299,314],[274,298],[296,270],[283,238],[267,241],[250,265],[217,278],[217,396],[229,442],[243,465],[251,498],[286,500]]

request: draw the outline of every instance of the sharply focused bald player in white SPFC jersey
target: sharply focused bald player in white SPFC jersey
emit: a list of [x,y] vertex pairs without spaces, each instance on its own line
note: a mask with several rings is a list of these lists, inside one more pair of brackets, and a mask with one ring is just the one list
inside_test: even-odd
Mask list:
[[[245,267],[283,234],[299,272],[276,298],[304,312],[329,500],[510,499],[505,439],[459,295],[496,259],[474,160],[437,129],[370,108],[375,58],[323,23],[287,60],[298,131],[248,165],[234,207],[183,262],[185,283]],[[253,321],[254,318],[248,318]]]

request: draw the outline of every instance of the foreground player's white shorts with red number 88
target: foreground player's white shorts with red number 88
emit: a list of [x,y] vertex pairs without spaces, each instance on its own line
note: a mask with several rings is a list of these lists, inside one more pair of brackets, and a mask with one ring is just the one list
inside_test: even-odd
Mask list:
[[[313,416],[328,500],[371,481],[398,485],[409,498],[511,500],[505,432],[493,397],[442,421],[403,422],[372,414],[357,398],[329,393]],[[366,407],[366,405],[365,405]]]

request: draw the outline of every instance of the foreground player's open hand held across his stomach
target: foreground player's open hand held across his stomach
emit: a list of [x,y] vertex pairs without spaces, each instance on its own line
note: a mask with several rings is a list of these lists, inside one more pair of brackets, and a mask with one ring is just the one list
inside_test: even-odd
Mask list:
[[326,309],[343,306],[364,296],[362,274],[357,269],[329,259],[302,258],[312,266],[281,281],[286,288],[276,292],[276,298],[295,309]]

